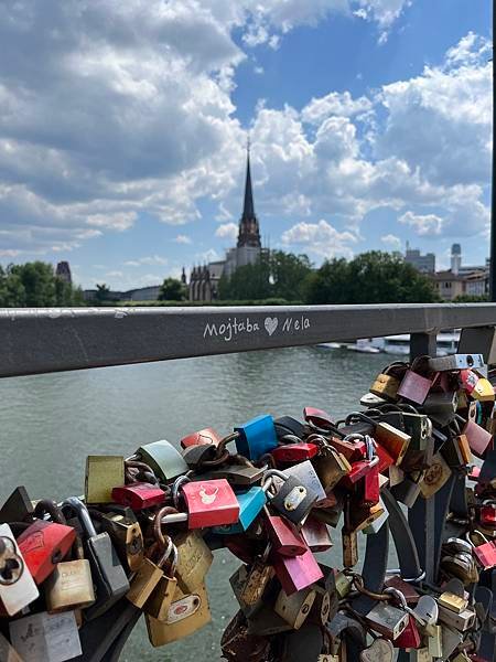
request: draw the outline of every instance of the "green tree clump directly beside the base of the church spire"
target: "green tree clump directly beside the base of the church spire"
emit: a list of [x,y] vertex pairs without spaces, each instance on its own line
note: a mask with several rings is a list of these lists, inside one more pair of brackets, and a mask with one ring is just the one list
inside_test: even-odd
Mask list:
[[263,253],[252,265],[239,267],[230,278],[223,276],[218,285],[219,299],[255,300],[276,297],[302,299],[303,284],[312,266],[306,255],[282,250]]

